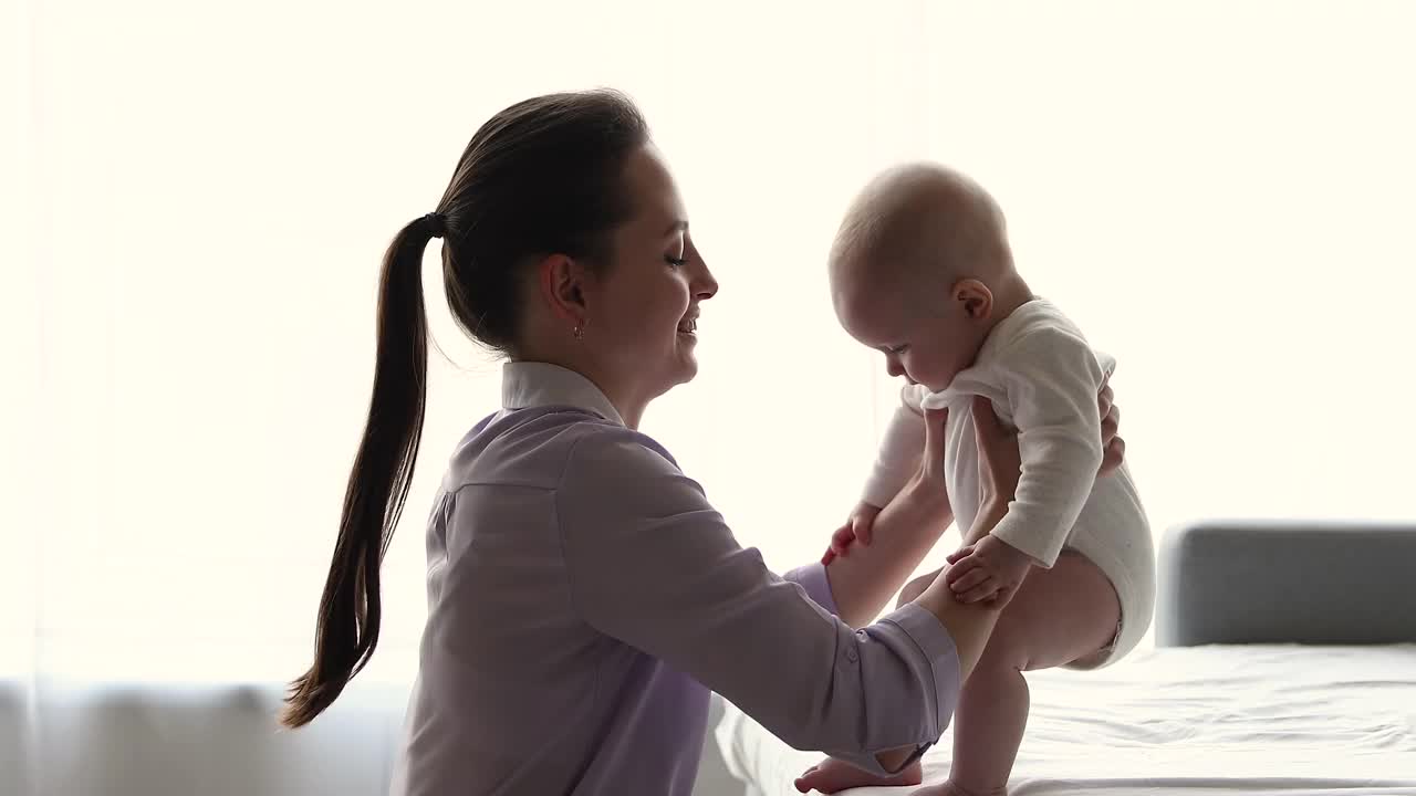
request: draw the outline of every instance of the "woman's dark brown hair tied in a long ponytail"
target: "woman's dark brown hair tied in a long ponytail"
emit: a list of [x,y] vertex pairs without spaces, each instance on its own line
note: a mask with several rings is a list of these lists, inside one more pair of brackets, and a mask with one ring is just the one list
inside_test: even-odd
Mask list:
[[423,428],[428,316],[423,249],[443,237],[443,286],[474,340],[514,354],[521,273],[539,256],[610,259],[629,220],[630,154],[649,140],[634,103],[613,91],[554,93],[497,113],[472,137],[435,212],[388,246],[378,299],[378,358],[334,558],[316,622],[314,664],[290,684],[280,722],[307,724],[334,703],[378,644],[379,564],[408,497]]

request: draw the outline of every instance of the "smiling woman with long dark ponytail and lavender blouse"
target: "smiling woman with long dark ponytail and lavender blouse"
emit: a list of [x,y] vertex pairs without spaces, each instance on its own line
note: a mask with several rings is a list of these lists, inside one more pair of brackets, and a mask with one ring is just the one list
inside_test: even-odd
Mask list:
[[[741,548],[636,431],[650,401],[694,377],[698,309],[718,285],[643,118],[613,92],[494,116],[436,212],[394,239],[370,419],[287,725],[327,708],[378,642],[379,559],[422,429],[432,238],[445,238],[453,316],[510,361],[501,411],[456,449],[429,520],[395,793],[687,795],[709,688],[787,742],[882,775],[939,738],[995,612],[954,602],[940,579],[851,625],[949,521],[942,418],[877,521],[889,545],[786,578]],[[1007,489],[993,491],[1001,516]]]

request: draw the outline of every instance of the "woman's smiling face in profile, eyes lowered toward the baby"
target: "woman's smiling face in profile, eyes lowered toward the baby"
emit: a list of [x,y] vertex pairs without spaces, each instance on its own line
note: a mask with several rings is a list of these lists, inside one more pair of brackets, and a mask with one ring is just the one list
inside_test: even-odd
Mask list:
[[634,215],[613,234],[615,262],[588,279],[582,343],[593,350],[600,378],[612,382],[600,388],[643,411],[698,373],[698,305],[718,292],[718,282],[694,246],[658,150],[647,144],[632,154],[624,181]]

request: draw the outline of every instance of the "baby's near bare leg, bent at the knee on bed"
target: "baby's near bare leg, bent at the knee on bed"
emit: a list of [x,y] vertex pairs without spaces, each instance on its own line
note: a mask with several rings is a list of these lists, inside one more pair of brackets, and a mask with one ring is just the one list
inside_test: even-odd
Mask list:
[[1066,551],[1051,569],[1034,569],[1003,609],[978,667],[954,711],[949,785],[936,793],[1007,793],[1008,775],[1028,725],[1024,671],[1095,654],[1112,643],[1121,603],[1106,575]]

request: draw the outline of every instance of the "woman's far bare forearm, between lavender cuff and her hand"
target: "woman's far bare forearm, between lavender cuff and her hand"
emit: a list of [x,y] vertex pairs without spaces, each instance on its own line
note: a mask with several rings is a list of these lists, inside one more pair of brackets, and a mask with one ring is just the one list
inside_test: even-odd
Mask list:
[[875,541],[851,545],[826,568],[841,620],[851,627],[874,622],[952,521],[944,490],[910,480],[875,517]]

